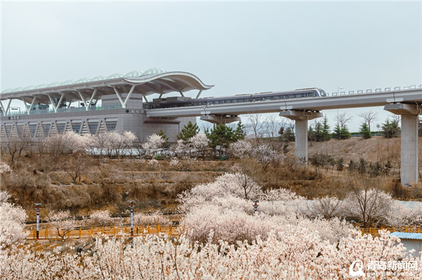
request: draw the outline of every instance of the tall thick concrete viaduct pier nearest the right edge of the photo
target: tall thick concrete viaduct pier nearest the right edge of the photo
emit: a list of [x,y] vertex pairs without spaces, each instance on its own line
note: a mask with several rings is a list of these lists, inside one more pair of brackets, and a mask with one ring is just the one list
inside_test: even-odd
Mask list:
[[399,114],[402,119],[400,181],[402,184],[418,182],[418,115],[421,109],[418,105],[392,103],[384,109],[393,114]]

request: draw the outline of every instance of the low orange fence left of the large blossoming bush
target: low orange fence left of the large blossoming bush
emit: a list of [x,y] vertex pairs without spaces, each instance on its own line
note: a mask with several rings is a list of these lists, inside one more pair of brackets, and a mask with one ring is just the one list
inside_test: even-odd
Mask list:
[[[172,225],[169,226],[134,226],[134,236],[141,236],[145,234],[159,234],[165,233],[171,236],[178,236],[180,232],[178,227],[173,227]],[[95,236],[96,234],[104,234],[107,236],[123,236],[123,235],[131,235],[131,228],[130,226],[124,227],[79,227],[75,228],[70,232],[63,232],[60,230],[60,235],[57,232],[57,229],[53,228],[46,228],[39,230],[39,239],[61,239],[65,234],[65,238],[90,238]],[[37,229],[32,229],[30,234],[27,236],[27,239],[37,239]]]

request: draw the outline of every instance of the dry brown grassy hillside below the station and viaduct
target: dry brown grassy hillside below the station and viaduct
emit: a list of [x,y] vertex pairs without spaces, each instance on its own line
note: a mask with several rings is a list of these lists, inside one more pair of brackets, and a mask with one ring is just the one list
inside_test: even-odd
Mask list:
[[[419,140],[419,159],[422,158],[422,139]],[[277,143],[279,149],[283,143]],[[49,154],[20,156],[12,173],[2,175],[1,189],[13,195],[13,199],[28,211],[33,211],[34,201],[46,209],[71,209],[78,215],[107,208],[112,213],[127,210],[127,201],[134,199],[143,211],[153,209],[175,209],[177,194],[194,185],[210,182],[226,172],[242,171],[250,175],[264,189],[288,188],[309,199],[318,196],[335,195],[343,197],[350,192],[350,183],[361,175],[347,171],[352,159],[364,159],[368,164],[378,161],[381,166],[390,161],[392,169],[388,174],[378,175],[376,185],[386,192],[396,192],[400,199],[421,199],[422,187],[415,187],[411,194],[397,189],[399,178],[399,138],[373,137],[369,140],[351,138],[328,142],[309,142],[309,158],[316,154],[343,158],[344,170],[336,166],[316,168],[308,164],[300,166],[294,156],[294,142],[290,142],[288,156],[280,164],[271,164],[263,169],[254,159],[226,161],[205,159],[180,159],[177,164],[169,159],[91,159],[78,158],[76,166],[84,165],[81,180],[72,180],[70,171],[53,167]],[[286,150],[285,149],[285,150]],[[75,161],[72,154],[61,159],[69,166]],[[8,155],[3,154],[3,162]],[[419,170],[422,170],[421,161]],[[63,166],[63,165],[62,165]],[[396,189],[395,189],[396,188]],[[420,190],[421,189],[421,190]]]

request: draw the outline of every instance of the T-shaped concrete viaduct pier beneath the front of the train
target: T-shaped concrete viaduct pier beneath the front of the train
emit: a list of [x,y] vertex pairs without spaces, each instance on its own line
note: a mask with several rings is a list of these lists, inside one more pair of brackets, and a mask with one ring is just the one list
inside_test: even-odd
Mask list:
[[307,122],[311,119],[320,118],[323,116],[322,113],[317,111],[283,110],[280,112],[280,116],[295,121],[295,154],[306,165],[308,161]]

